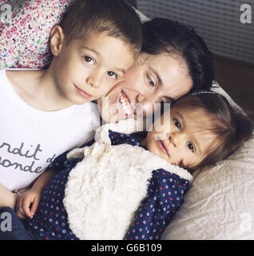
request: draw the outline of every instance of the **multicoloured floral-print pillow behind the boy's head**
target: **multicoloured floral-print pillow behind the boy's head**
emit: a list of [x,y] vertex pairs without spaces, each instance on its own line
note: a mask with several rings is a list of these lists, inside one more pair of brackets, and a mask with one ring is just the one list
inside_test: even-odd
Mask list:
[[43,68],[50,31],[74,0],[0,0],[0,69]]

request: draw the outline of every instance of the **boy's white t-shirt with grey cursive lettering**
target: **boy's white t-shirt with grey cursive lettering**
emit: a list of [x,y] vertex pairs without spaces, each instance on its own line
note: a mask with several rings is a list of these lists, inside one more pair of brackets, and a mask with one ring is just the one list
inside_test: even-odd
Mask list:
[[26,104],[0,70],[0,183],[29,186],[59,154],[93,138],[100,124],[97,104],[42,111]]

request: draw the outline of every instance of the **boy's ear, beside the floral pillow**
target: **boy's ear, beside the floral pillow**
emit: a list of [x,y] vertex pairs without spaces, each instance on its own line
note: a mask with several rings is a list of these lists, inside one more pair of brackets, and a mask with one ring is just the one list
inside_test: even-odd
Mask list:
[[60,54],[64,42],[65,34],[61,26],[54,26],[50,34],[50,48],[52,54],[56,57]]

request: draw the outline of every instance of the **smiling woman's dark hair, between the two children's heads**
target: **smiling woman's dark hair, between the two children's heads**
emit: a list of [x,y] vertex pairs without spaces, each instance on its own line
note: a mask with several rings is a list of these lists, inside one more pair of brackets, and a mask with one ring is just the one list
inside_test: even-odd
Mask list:
[[167,18],[153,18],[142,24],[142,52],[177,54],[183,58],[192,78],[192,90],[209,90],[214,80],[212,53],[191,26]]

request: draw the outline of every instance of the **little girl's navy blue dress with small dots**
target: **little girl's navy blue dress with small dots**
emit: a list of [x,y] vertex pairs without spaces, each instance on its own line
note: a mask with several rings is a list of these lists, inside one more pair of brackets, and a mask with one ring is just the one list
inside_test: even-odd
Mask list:
[[[120,134],[109,130],[112,145],[127,143],[141,146],[131,134]],[[91,141],[85,146],[90,146]],[[77,240],[69,229],[68,216],[63,205],[65,184],[69,171],[82,158],[66,160],[66,154],[61,154],[48,167],[48,170],[58,170],[58,174],[43,190],[38,210],[33,219],[27,219],[31,228],[46,240]],[[189,181],[177,174],[163,169],[153,170],[149,180],[147,197],[141,202],[133,223],[125,234],[125,240],[160,239],[161,234],[169,225],[170,219],[183,202],[184,194],[189,188]]]

